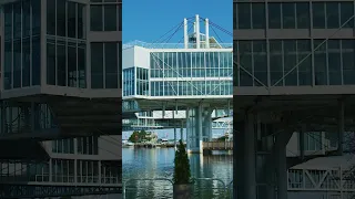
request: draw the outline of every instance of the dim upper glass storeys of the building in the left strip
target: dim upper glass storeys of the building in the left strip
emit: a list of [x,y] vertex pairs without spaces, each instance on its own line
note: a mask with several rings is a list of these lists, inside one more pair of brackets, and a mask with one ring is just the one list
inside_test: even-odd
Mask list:
[[3,90],[121,88],[121,2],[3,1]]

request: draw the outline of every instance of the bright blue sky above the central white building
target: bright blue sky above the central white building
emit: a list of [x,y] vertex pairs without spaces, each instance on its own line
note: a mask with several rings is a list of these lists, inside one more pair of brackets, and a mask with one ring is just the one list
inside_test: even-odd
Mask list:
[[[195,14],[209,18],[213,23],[233,33],[232,0],[123,0],[122,10],[123,43],[134,40],[155,42],[184,18]],[[203,23],[201,28],[204,32]],[[216,27],[213,29],[223,43],[232,43],[232,35],[222,32]],[[212,28],[210,28],[210,34],[214,35]],[[169,35],[171,33],[165,38]],[[183,29],[181,28],[170,42],[178,43],[182,36]]]

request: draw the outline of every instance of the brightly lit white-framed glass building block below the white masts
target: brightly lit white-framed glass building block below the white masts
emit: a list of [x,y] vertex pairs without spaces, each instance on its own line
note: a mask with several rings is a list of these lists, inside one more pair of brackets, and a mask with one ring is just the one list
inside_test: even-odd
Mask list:
[[232,49],[158,50],[133,46],[123,53],[128,54],[124,57],[141,54],[146,57],[142,65],[124,65],[123,97],[232,95]]

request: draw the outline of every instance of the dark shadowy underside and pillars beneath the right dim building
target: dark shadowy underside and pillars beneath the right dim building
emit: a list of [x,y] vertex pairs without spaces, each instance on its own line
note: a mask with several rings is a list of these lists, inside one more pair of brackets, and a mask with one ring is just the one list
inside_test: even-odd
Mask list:
[[354,105],[355,95],[234,96],[234,192],[237,198],[274,199],[277,195],[286,199],[290,166],[286,145],[293,133],[300,133],[301,161],[306,160],[303,135],[307,132],[336,134],[341,140],[336,155],[342,155],[344,132],[355,127]]

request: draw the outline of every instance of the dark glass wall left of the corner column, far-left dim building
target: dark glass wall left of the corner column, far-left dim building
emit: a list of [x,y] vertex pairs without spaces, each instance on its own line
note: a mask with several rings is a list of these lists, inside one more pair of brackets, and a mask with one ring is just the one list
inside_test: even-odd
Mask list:
[[3,88],[40,85],[41,4],[23,0],[3,6]]

